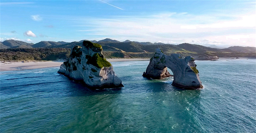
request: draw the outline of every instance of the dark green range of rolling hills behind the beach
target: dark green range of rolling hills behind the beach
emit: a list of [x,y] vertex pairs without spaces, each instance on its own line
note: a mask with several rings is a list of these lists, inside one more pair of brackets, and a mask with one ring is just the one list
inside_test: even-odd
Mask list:
[[[70,50],[76,45],[82,46],[83,41],[84,40],[81,40],[79,42],[41,41],[36,44],[33,44],[33,43],[27,43],[23,41],[6,40],[0,43],[0,48],[1,48],[0,58],[1,60],[3,59],[50,60],[55,58],[65,59],[66,56],[63,56],[64,53],[58,53],[56,50],[61,49],[63,51],[64,49],[66,53],[68,50]],[[165,43],[135,42],[130,40],[120,42],[120,41],[112,40],[109,38],[106,38],[100,41],[93,40],[93,42],[97,42],[100,45],[102,45],[103,53],[107,58],[151,58],[156,48],[161,48],[163,52],[167,55],[170,55],[172,53],[180,53],[182,54],[182,56],[205,54],[207,56],[212,56],[212,57],[218,56],[218,57],[256,58],[255,47],[233,46],[225,49],[218,49],[218,48],[210,48],[210,47],[194,45],[189,43],[172,45],[172,44],[165,44]],[[49,51],[50,53],[49,55],[47,54],[47,51]],[[32,52],[34,55],[31,54],[30,52]]]

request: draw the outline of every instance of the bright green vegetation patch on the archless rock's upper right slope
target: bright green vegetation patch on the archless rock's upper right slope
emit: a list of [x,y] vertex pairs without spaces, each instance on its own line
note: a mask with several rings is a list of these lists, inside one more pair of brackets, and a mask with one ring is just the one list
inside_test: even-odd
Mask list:
[[97,68],[110,67],[111,63],[109,63],[103,55],[99,53],[95,53],[92,57],[90,57],[87,61],[88,64],[92,64]]

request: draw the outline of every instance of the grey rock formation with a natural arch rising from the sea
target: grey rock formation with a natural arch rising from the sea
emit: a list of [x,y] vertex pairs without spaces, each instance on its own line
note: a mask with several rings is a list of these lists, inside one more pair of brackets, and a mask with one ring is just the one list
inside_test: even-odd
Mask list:
[[196,69],[195,59],[191,56],[182,58],[180,54],[167,56],[161,49],[157,49],[154,57],[150,59],[144,77],[163,79],[171,76],[167,68],[173,72],[173,86],[188,89],[202,88],[199,72]]

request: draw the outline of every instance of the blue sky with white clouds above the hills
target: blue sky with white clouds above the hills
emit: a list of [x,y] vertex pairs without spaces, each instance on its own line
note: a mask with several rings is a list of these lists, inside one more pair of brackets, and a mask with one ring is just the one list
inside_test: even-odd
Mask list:
[[255,47],[254,1],[0,1],[0,40]]

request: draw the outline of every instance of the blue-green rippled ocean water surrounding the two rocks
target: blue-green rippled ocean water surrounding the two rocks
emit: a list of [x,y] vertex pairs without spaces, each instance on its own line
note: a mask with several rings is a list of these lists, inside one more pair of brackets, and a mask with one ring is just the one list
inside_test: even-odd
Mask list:
[[0,132],[256,132],[255,59],[195,61],[202,90],[112,62],[121,89],[89,90],[56,68],[0,73]]

